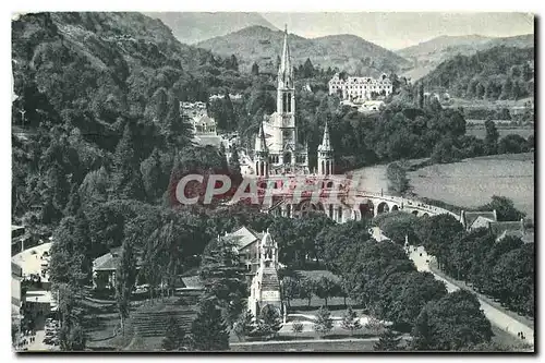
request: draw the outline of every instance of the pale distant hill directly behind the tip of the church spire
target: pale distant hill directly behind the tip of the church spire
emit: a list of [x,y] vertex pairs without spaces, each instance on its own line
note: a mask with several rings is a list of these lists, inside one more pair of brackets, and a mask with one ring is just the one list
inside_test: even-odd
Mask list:
[[[409,62],[373,43],[354,35],[331,35],[307,39],[289,35],[294,64],[312,63],[323,69],[339,68],[349,73],[372,74],[399,71]],[[196,44],[218,55],[240,55],[241,65],[250,70],[254,62],[261,70],[276,73],[277,57],[281,55],[283,32],[263,26],[250,26],[239,32]]]

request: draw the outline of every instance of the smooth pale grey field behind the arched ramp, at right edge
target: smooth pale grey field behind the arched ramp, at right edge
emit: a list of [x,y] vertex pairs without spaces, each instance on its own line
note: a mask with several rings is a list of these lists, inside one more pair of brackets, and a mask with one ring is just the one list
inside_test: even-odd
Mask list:
[[477,207],[501,195],[534,217],[534,154],[494,155],[433,165],[408,173],[413,192],[461,207]]

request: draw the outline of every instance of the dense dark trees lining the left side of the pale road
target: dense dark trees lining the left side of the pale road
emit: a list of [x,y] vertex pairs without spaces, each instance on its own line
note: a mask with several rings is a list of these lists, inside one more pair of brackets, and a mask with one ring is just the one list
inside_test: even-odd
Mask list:
[[[363,237],[368,225],[349,221],[332,226],[331,232],[337,228],[359,229]],[[423,231],[437,229],[424,225]],[[392,328],[411,331],[411,349],[460,350],[489,342],[491,324],[477,299],[463,290],[447,293],[432,274],[416,271],[399,244],[378,243],[367,235],[340,240],[338,246],[341,253],[329,265],[346,281],[350,298],[372,316],[393,322]]]

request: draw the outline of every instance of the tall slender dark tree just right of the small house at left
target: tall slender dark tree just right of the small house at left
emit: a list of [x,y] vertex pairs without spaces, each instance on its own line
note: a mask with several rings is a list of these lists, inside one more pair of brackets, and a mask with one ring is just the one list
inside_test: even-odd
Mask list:
[[123,241],[121,259],[116,270],[116,302],[121,320],[121,331],[125,334],[125,319],[129,317],[131,305],[131,293],[136,277],[136,259],[133,252],[132,241]]

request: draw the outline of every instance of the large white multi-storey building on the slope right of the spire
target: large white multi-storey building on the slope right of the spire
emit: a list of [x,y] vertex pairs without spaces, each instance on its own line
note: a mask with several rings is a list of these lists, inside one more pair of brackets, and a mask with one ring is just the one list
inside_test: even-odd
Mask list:
[[372,93],[377,96],[388,96],[391,92],[391,81],[386,74],[380,75],[378,80],[350,76],[344,80],[337,73],[329,81],[329,94],[337,95],[340,93],[342,99],[368,100],[372,99]]

